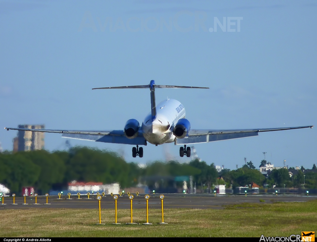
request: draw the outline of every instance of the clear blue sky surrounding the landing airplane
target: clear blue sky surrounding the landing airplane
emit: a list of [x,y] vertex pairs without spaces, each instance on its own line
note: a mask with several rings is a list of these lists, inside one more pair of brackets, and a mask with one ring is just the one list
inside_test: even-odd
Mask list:
[[[315,1],[0,1],[2,147],[12,150],[16,136],[4,127],[19,124],[108,130],[131,118],[142,123],[149,90],[91,89],[152,79],[210,87],[156,91],[157,102],[168,96],[184,105],[192,128],[317,125],[316,10]],[[311,169],[316,134],[317,126],[195,148],[208,164],[229,169],[245,157],[258,167],[263,152],[275,166],[286,160]],[[45,134],[49,151],[65,149],[65,141]],[[70,143],[139,163],[189,160],[174,144],[148,144],[143,158],[132,158],[129,145]]]

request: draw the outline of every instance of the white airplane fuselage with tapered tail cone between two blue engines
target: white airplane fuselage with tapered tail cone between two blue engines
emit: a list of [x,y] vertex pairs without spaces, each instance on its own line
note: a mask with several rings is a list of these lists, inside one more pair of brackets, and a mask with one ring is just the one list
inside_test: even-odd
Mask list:
[[175,99],[167,99],[156,106],[157,116],[152,120],[149,113],[142,123],[142,133],[147,142],[153,145],[171,143],[175,140],[173,128],[177,121],[185,118],[184,106]]

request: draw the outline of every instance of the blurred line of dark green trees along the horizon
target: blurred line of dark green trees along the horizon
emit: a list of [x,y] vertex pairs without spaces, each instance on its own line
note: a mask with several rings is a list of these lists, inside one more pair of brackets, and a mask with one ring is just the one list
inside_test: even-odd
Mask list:
[[197,188],[207,192],[217,184],[234,188],[252,182],[259,186],[267,184],[268,187],[301,187],[304,179],[305,188],[317,188],[317,173],[304,174],[300,170],[297,175],[289,177],[287,169],[279,169],[265,177],[251,161],[242,168],[232,171],[223,169],[218,173],[213,163],[208,165],[197,159],[183,164],[154,161],[142,168],[136,163],[126,162],[117,153],[87,147],[74,147],[68,152],[36,150],[0,153],[0,183],[17,194],[27,186],[34,187],[39,194],[51,189],[65,189],[73,180],[119,183],[121,188],[134,187],[138,183],[146,183],[149,187],[155,183],[161,187],[181,187],[183,182],[174,180],[181,176],[191,176]]

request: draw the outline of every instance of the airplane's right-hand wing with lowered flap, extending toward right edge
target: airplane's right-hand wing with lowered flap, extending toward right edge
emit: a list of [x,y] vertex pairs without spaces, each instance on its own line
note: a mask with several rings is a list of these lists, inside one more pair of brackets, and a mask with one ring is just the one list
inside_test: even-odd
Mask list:
[[283,128],[256,128],[256,129],[193,129],[190,130],[188,136],[183,139],[176,138],[175,145],[187,145],[196,143],[208,143],[218,140],[231,140],[244,137],[257,136],[259,132],[278,131],[278,130],[289,130],[299,128],[312,128],[311,126],[301,127],[283,127]]

